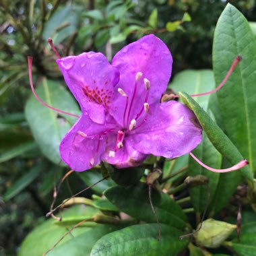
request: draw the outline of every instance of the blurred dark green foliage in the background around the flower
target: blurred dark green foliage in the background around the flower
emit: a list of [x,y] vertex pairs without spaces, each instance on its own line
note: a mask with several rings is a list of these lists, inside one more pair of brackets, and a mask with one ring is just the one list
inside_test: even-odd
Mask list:
[[[0,255],[15,255],[26,234],[45,219],[53,187],[69,170],[51,148],[40,144],[40,139],[54,138],[47,133],[49,123],[41,108],[36,116],[30,111],[34,98],[28,100],[32,92],[27,56],[34,59],[35,85],[61,85],[65,92],[59,106],[69,110],[66,100],[71,96],[47,43],[49,37],[61,56],[100,51],[111,60],[125,44],[154,33],[172,53],[174,77],[184,69],[212,68],[214,28],[226,3],[242,11],[256,30],[253,0],[0,0]],[[70,104],[79,113],[76,102]],[[36,140],[35,129],[42,129]],[[100,179],[97,175],[72,175],[57,201],[91,185]]]

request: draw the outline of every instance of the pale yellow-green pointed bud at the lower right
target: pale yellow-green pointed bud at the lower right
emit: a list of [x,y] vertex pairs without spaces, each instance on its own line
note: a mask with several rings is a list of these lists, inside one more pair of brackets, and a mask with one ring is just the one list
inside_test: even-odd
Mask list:
[[214,219],[205,220],[194,237],[197,245],[208,248],[217,248],[228,238],[236,225],[220,222]]

